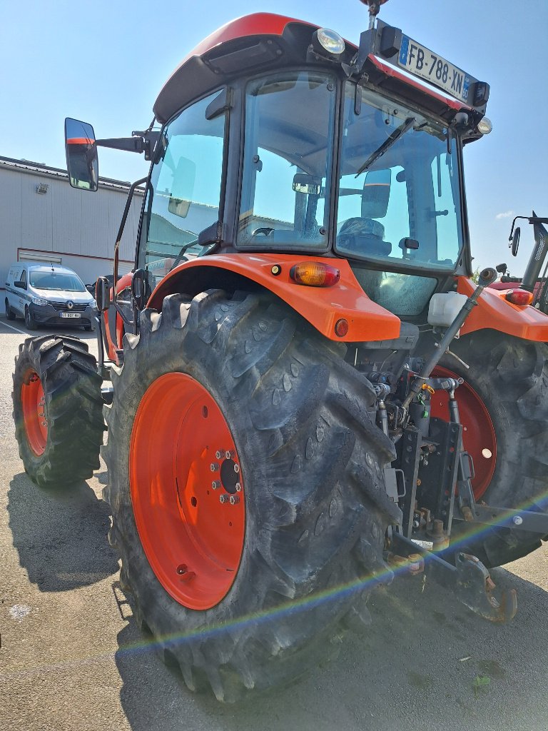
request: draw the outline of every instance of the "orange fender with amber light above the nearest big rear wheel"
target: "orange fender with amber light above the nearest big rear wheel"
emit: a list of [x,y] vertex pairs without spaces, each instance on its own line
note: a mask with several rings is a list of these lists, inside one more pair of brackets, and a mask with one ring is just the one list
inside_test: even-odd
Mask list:
[[[332,287],[306,287],[289,277],[293,265],[320,261],[340,271]],[[273,267],[280,269],[273,273]],[[391,340],[400,335],[400,318],[374,303],[359,286],[345,259],[305,257],[295,254],[216,254],[185,262],[172,270],[154,289],[148,307],[161,309],[167,295],[186,292],[195,295],[204,289],[219,287],[228,273],[260,284],[286,302],[323,336],[335,341],[361,342]],[[245,282],[241,285],[245,289]],[[335,334],[335,323],[346,319],[346,336]]]

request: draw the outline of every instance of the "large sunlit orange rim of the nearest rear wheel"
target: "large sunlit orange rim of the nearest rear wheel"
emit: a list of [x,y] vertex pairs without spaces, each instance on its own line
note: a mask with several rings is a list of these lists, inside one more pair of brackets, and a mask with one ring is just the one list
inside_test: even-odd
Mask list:
[[221,602],[243,552],[243,476],[221,409],[190,376],[161,376],[142,397],[129,484],[142,547],[164,589],[189,609]]

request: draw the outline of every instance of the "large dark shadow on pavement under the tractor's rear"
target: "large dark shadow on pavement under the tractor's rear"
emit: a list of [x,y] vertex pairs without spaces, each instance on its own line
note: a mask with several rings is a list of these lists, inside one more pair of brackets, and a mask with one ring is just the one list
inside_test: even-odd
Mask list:
[[373,596],[373,624],[346,635],[338,659],[242,705],[189,692],[131,617],[115,655],[123,710],[133,731],[544,731],[548,594],[505,569],[492,575],[517,588],[511,624],[490,624],[443,588],[403,578]]

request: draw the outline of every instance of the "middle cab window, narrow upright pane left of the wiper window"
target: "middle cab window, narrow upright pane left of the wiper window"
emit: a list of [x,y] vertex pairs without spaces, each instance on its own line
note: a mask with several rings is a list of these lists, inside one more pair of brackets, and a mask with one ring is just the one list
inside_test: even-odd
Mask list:
[[316,71],[248,84],[238,246],[327,249],[336,88]]

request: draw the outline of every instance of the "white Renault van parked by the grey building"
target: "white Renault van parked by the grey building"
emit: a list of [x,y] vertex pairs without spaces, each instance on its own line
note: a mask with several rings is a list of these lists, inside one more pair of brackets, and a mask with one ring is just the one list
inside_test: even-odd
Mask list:
[[96,302],[72,269],[17,262],[6,282],[6,317],[20,316],[28,330],[39,325],[78,325],[93,330]]

